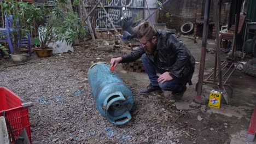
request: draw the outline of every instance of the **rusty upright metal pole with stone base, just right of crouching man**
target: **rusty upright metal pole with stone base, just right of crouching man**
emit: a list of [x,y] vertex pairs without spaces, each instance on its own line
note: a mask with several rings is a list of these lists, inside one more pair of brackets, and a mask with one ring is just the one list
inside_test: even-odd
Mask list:
[[211,0],[206,0],[205,17],[203,21],[203,37],[202,37],[199,79],[197,83],[197,95],[195,97],[195,102],[200,104],[206,104],[207,102],[206,98],[202,97],[202,82],[203,82],[203,72],[205,70],[205,56],[206,56],[206,45],[207,45],[207,35],[208,35],[208,26],[209,26],[210,4],[211,4]]

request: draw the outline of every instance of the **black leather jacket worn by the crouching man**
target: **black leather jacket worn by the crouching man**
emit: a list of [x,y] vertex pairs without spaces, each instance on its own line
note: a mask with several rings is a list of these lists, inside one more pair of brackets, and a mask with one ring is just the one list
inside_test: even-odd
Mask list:
[[[123,55],[121,63],[135,61],[145,53],[142,46]],[[158,68],[169,71],[172,77],[184,77],[185,83],[191,82],[195,68],[195,58],[191,55],[176,34],[158,30],[156,49],[153,55],[147,55]],[[190,84],[190,83],[189,83]]]

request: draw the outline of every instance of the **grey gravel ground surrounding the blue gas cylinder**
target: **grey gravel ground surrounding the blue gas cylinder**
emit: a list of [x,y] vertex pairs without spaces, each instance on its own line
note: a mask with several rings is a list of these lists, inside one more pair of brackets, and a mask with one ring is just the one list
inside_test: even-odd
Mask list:
[[125,83],[135,97],[131,121],[113,125],[101,116],[87,72],[92,63],[109,63],[117,55],[121,54],[77,46],[74,53],[49,58],[33,54],[27,64],[15,67],[3,68],[13,64],[5,59],[0,65],[0,86],[34,104],[30,108],[34,143],[180,143],[179,138],[188,133],[178,119],[186,112],[177,110],[162,94],[139,95],[141,87],[129,81]]

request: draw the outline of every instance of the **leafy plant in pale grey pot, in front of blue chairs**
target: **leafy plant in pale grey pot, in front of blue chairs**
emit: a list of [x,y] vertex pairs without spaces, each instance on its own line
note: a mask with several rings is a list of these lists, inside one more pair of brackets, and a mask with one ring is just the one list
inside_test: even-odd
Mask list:
[[40,13],[40,9],[27,2],[7,0],[1,3],[1,7],[5,16],[5,26],[8,28],[13,43],[14,53],[11,53],[10,56],[14,61],[25,61],[27,54],[21,51],[21,41],[25,38],[29,39],[29,30],[32,29],[33,19],[35,17],[42,18],[42,13]]

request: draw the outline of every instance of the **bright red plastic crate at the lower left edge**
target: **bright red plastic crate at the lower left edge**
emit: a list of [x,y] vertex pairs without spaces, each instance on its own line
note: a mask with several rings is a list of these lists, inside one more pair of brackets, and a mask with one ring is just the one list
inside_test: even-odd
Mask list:
[[[18,95],[11,92],[8,88],[0,87],[0,116],[3,116],[3,110],[5,110],[5,117],[9,120],[15,140],[18,139],[21,131],[25,128],[28,139],[32,143],[28,107],[22,107],[21,104],[22,101]],[[14,143],[9,129],[8,132],[11,143]]]

